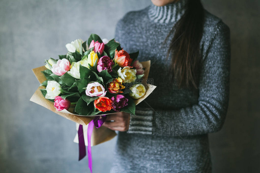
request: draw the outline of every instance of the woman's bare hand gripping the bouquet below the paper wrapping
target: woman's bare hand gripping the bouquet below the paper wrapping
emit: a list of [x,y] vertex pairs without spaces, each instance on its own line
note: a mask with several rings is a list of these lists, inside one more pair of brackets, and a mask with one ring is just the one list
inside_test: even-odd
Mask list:
[[121,132],[127,131],[130,123],[130,114],[125,112],[118,112],[115,114],[107,115],[106,122],[103,126]]

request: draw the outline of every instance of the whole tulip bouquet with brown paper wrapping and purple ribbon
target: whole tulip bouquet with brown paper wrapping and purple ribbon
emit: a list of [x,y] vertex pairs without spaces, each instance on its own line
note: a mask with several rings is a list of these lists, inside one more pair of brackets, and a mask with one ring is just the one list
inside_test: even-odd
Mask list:
[[[30,100],[80,124],[79,160],[86,155],[82,125],[88,125],[92,172],[90,146],[116,135],[113,130],[101,126],[106,115],[119,111],[135,115],[135,105],[156,87],[146,83],[150,61],[139,62],[136,60],[138,52],[127,53],[114,39],[101,40],[98,35],[91,34],[87,41],[77,39],[66,44],[66,48],[66,55],[45,60],[45,66],[33,69],[41,85]],[[94,126],[98,130],[93,129]]]

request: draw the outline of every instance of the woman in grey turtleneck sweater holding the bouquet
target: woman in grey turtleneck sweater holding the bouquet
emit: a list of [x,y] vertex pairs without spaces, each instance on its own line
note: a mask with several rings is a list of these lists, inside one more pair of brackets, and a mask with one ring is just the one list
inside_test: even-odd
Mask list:
[[200,0],[152,2],[116,27],[124,50],[151,60],[157,88],[136,116],[104,123],[119,131],[111,172],[211,172],[208,133],[223,126],[229,100],[229,28]]

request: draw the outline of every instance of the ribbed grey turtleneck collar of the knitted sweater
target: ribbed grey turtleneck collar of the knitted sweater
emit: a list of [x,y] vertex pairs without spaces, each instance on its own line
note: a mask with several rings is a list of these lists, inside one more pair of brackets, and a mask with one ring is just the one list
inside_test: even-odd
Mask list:
[[148,10],[148,16],[156,23],[176,22],[184,14],[186,3],[187,0],[179,0],[161,7],[151,5]]

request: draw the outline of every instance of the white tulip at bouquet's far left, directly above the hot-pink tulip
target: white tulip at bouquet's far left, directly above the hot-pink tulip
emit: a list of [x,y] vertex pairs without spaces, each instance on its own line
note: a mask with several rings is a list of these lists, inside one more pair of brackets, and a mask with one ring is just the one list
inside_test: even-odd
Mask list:
[[61,87],[56,81],[48,81],[46,86],[47,94],[45,98],[54,99],[56,96],[60,95]]

